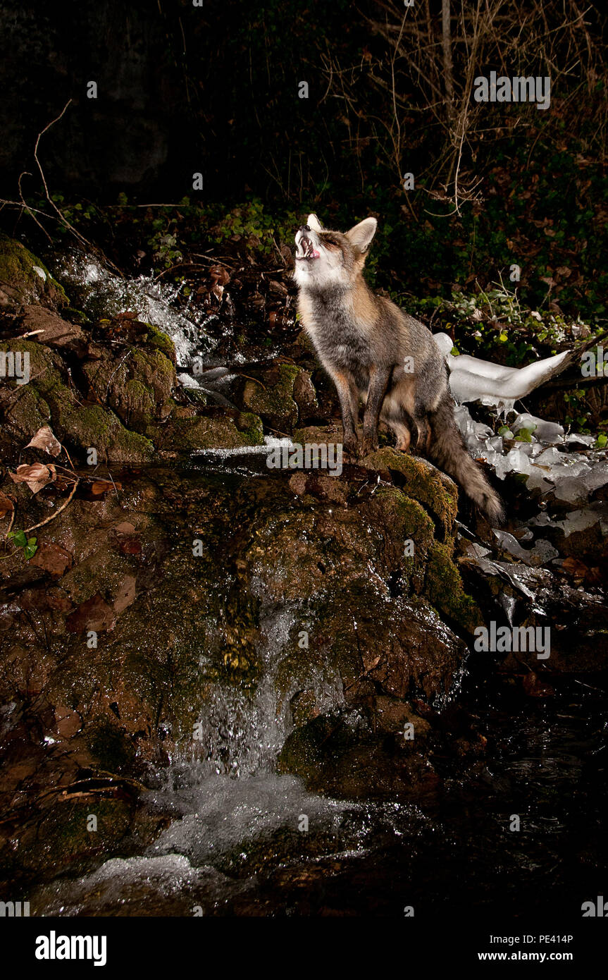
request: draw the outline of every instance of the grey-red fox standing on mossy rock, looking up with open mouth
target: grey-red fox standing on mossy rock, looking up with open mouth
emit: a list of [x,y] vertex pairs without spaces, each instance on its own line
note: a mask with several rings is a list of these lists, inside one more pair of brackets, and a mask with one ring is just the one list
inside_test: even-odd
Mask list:
[[500,522],[500,499],[456,428],[447,371],[431,331],[373,293],[363,278],[377,223],[366,218],[343,234],[309,215],[296,235],[300,319],[338,390],[345,451],[366,456],[376,449],[383,421],[395,432],[398,450],[406,452],[411,443]]

